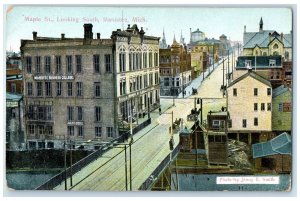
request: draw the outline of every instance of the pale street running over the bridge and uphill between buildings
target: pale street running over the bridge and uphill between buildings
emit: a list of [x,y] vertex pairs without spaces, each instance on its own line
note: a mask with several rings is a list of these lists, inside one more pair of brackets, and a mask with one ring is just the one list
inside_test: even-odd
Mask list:
[[[230,63],[231,66],[231,63]],[[219,110],[226,106],[220,86],[222,85],[223,70],[222,63],[218,65],[211,75],[204,80],[198,88],[198,94],[187,99],[175,99],[175,107],[172,107],[173,100],[161,99],[162,111],[165,114],[159,115],[158,111],[151,113],[152,123],[142,131],[134,135],[132,144],[132,189],[134,191],[151,175],[161,161],[168,157],[169,150],[169,126],[171,115],[174,112],[176,118],[186,117],[194,107],[194,98],[218,98],[204,99],[203,112],[206,119],[209,110]],[[230,68],[231,69],[231,68]],[[199,105],[197,105],[199,108]],[[169,109],[168,109],[169,108]],[[174,134],[175,145],[179,143],[179,135]],[[129,182],[129,148],[127,148],[127,181]],[[71,190],[91,191],[119,191],[126,190],[125,177],[125,152],[124,146],[119,145],[107,151],[101,158],[97,159],[73,176],[73,187]],[[68,189],[70,181],[68,180]],[[64,182],[55,190],[64,190]]]

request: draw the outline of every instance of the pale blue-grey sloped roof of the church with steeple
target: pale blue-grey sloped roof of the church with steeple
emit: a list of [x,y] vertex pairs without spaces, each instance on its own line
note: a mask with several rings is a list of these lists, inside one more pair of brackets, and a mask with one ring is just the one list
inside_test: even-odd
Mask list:
[[[244,48],[254,48],[255,45],[259,47],[268,47],[270,43],[269,34],[271,33],[271,41],[277,38],[279,41],[280,35],[274,30],[263,30],[261,32],[246,32],[244,33]],[[276,34],[275,34],[276,33]],[[292,47],[292,35],[283,34],[281,41],[284,47]]]

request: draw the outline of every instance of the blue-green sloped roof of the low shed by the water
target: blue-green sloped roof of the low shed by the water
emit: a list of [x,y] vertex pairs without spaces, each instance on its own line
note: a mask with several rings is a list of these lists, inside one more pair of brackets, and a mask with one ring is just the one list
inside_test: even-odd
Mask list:
[[253,158],[270,156],[275,154],[292,153],[291,136],[284,132],[268,142],[262,142],[252,145]]

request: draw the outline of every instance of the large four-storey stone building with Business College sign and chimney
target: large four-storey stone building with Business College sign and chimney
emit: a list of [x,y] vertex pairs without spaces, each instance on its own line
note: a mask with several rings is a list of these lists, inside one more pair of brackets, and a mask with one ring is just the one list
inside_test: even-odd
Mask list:
[[33,32],[33,40],[21,40],[29,148],[61,148],[65,138],[112,140],[119,118],[159,102],[159,38],[136,25],[113,31],[110,39],[94,38],[92,27],[84,24],[83,38]]

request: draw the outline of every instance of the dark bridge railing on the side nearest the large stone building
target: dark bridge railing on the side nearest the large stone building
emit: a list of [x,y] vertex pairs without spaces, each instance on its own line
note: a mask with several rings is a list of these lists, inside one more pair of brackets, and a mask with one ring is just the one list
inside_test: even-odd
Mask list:
[[[141,123],[140,125],[135,127],[132,130],[132,133],[136,134],[137,132],[139,132],[140,130],[142,130],[143,128],[148,126],[149,124],[151,124],[151,118],[147,119],[146,121],[144,121],[143,123]],[[128,139],[129,135],[130,135],[130,131],[123,133],[119,137],[111,140],[110,143],[114,144],[114,143],[124,142],[126,139]],[[67,177],[74,175],[75,173],[79,172],[82,168],[84,168],[91,162],[98,159],[100,156],[102,156],[102,154],[104,154],[106,151],[108,151],[112,147],[106,146],[105,148],[106,148],[105,150],[104,149],[102,150],[100,148],[99,150],[88,155],[87,157],[81,159],[80,161],[78,161],[77,163],[72,165],[72,171],[71,171],[70,167],[67,168],[66,170],[64,170],[64,171],[60,172],[59,174],[55,175],[54,177],[52,177],[50,180],[48,180],[41,186],[37,187],[36,190],[52,190],[52,189],[54,189],[56,186],[58,186],[59,184],[61,184],[64,181],[66,174],[67,174]]]

